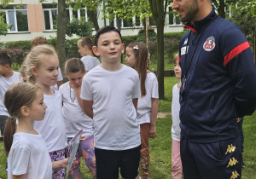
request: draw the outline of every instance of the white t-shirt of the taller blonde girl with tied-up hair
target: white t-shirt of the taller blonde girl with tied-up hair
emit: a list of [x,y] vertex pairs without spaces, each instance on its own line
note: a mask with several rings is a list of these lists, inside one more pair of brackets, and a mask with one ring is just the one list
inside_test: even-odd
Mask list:
[[61,93],[55,90],[54,95],[44,95],[44,103],[47,106],[44,120],[35,121],[34,128],[43,136],[50,153],[67,147]]

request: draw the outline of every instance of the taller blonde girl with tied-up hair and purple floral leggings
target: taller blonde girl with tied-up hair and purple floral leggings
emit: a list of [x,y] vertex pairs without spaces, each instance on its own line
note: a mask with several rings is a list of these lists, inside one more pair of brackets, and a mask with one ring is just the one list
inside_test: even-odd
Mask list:
[[[36,121],[34,127],[43,136],[52,161],[65,159],[67,135],[62,114],[61,93],[50,86],[57,83],[59,60],[55,49],[47,44],[32,48],[26,56],[28,81],[37,84],[44,94],[47,111],[43,121]],[[53,178],[64,178],[65,169],[53,170]]]

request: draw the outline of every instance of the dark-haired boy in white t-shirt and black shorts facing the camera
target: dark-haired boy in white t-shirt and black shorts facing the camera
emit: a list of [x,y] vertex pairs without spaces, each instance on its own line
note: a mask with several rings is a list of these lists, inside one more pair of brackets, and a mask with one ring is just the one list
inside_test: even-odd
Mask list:
[[104,26],[95,36],[93,52],[102,63],[86,73],[81,87],[84,113],[93,118],[97,179],[138,178],[140,128],[138,73],[120,63],[125,51],[120,32]]

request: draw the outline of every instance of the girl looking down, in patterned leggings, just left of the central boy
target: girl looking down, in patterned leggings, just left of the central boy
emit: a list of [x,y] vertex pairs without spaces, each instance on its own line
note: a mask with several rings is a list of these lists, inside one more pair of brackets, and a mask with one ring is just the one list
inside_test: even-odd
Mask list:
[[[70,141],[79,130],[83,129],[79,148],[83,153],[85,164],[89,168],[91,175],[96,179],[93,121],[92,118],[84,113],[80,98],[82,79],[85,74],[83,61],[78,58],[68,60],[65,65],[65,73],[69,81],[62,84],[59,91],[63,101],[62,113],[66,124],[67,141]],[[70,174],[74,179],[81,178],[79,150],[76,153],[76,159],[76,165],[70,170]]]

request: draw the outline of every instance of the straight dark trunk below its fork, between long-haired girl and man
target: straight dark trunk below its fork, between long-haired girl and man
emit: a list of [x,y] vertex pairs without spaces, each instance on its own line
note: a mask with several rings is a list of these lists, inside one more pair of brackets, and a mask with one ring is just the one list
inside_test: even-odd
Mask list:
[[164,26],[165,20],[157,20],[157,79],[159,84],[159,99],[165,98],[165,49],[164,49]]

